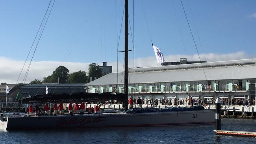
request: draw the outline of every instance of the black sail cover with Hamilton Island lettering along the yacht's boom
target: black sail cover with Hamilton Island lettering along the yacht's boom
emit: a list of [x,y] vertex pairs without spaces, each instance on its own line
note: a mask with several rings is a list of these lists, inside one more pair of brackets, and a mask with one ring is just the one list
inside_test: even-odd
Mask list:
[[43,94],[29,96],[19,100],[19,103],[70,103],[70,102],[102,102],[108,100],[124,101],[126,94],[116,92],[89,93],[79,92],[74,94]]

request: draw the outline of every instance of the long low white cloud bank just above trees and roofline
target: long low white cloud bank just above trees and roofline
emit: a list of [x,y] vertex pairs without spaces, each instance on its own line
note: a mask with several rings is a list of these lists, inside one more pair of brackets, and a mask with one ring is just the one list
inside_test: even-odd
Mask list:
[[[166,61],[179,61],[180,58],[186,57],[188,61],[199,61],[198,55],[165,55]],[[201,54],[201,61],[228,61],[236,59],[249,59],[251,56],[245,54],[245,52],[235,52],[229,54]],[[102,65],[102,63],[97,63]],[[24,61],[15,61],[6,57],[0,57],[0,83],[16,83]],[[49,76],[60,65],[63,65],[69,69],[69,73],[76,72],[78,70],[88,71],[89,63],[73,63],[73,62],[59,62],[59,61],[36,61],[32,62],[28,78],[26,83],[39,79],[43,80],[44,77]],[[117,62],[108,62],[108,65],[112,66],[112,72],[117,72]],[[156,62],[156,57],[139,57],[135,59],[135,67],[150,67],[160,66],[161,64]],[[26,64],[22,75],[18,81],[22,82],[28,63]],[[133,60],[129,61],[129,67],[133,67]],[[118,71],[123,71],[123,63],[118,63]]]

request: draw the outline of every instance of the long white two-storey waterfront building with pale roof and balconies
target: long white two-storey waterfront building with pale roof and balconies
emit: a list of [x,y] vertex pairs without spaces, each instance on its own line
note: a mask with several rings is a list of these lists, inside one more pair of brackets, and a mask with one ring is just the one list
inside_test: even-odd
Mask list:
[[[128,95],[135,99],[195,100],[256,98],[256,59],[130,69]],[[117,81],[118,79],[118,81]],[[124,73],[109,73],[85,84],[88,92],[124,92]]]

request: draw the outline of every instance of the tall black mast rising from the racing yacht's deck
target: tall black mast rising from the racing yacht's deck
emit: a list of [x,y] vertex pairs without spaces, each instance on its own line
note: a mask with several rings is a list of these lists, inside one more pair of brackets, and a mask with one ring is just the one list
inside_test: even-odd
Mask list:
[[128,110],[128,0],[124,1],[124,109]]

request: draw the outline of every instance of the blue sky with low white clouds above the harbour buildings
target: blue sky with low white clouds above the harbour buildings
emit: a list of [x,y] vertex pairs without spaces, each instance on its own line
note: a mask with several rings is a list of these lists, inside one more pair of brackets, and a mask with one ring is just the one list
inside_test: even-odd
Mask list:
[[[0,1],[0,83],[42,80],[60,65],[72,73],[106,61],[113,72],[117,65],[119,72],[123,70],[124,54],[117,50],[124,50],[124,0],[52,0],[41,39],[32,46],[49,2]],[[197,50],[206,61],[256,58],[255,0],[182,0],[182,4],[180,0],[129,1],[129,49],[134,49],[129,52],[129,67],[161,65],[151,42],[161,49],[165,61],[181,57],[198,61]]]

